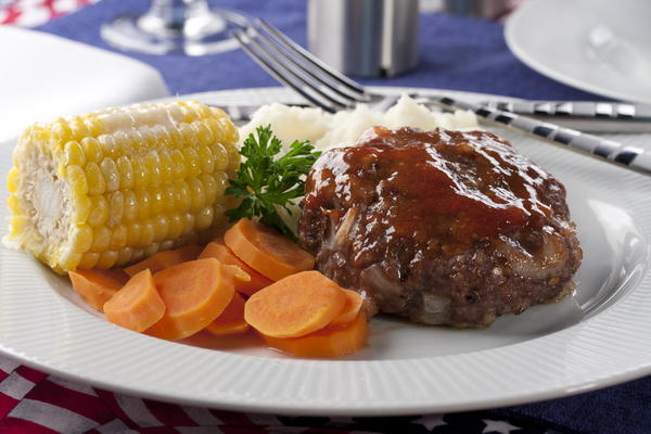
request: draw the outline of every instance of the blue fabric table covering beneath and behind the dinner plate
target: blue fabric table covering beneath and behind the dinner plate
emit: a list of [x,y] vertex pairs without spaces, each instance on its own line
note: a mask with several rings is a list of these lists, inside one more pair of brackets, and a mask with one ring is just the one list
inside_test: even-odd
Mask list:
[[[149,1],[144,0],[103,0],[50,22],[39,29],[113,50],[100,38],[100,23],[126,12],[142,13],[148,4]],[[305,44],[304,0],[222,0],[216,5],[261,16]],[[173,93],[278,85],[240,50],[202,58],[127,54],[156,67]],[[84,67],[84,60],[79,60],[79,67]],[[465,90],[526,99],[603,100],[553,81],[525,66],[507,48],[499,23],[446,14],[427,14],[421,17],[420,64],[416,71],[392,79],[363,82]],[[527,433],[542,433],[546,427],[567,433],[650,433],[651,376],[567,398],[473,414],[494,419],[506,417],[512,421],[526,422],[531,426]],[[459,420],[470,416],[454,413],[445,418]],[[303,423],[304,418],[299,419]],[[383,420],[376,423],[383,424],[382,431],[386,430],[388,422],[390,426],[395,426],[395,432],[412,432],[409,419],[392,418],[392,422]],[[318,425],[319,419],[315,418],[314,423]],[[373,423],[369,422],[365,427],[370,430]],[[483,430],[482,426],[468,425],[464,432]],[[433,432],[451,431],[437,426]]]

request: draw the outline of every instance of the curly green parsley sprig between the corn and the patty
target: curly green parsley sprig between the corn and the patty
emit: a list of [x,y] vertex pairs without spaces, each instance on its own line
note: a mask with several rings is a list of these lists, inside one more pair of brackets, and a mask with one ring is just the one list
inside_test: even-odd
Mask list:
[[292,214],[288,204],[305,194],[304,176],[321,153],[314,151],[309,141],[295,140],[288,153],[275,159],[282,143],[273,136],[271,127],[257,127],[256,135],[257,139],[251,133],[244,140],[240,154],[246,161],[240,164],[238,177],[229,180],[230,187],[226,189],[227,194],[243,197],[243,201],[226,215],[231,221],[259,217],[260,222],[296,241],[296,234],[283,221],[278,209]]

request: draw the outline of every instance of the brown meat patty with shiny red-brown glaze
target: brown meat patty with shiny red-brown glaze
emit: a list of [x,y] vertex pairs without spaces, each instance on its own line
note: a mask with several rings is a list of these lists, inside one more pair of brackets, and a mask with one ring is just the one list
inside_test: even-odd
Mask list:
[[324,152],[305,192],[302,245],[371,315],[486,327],[575,286],[564,187],[490,132],[374,127]]

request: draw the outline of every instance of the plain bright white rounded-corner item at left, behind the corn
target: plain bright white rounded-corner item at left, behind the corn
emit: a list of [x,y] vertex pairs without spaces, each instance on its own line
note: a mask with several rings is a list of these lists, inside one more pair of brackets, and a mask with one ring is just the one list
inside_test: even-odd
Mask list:
[[167,95],[161,74],[142,62],[0,26],[0,140],[35,122]]

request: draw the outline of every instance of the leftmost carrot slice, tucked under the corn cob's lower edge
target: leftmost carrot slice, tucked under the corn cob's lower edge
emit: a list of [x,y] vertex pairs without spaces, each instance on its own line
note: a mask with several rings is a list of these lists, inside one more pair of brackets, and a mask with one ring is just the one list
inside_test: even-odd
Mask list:
[[76,270],[68,272],[68,276],[73,289],[99,311],[102,311],[104,303],[129,280],[122,270]]

